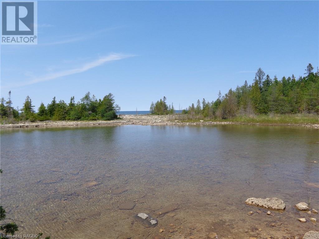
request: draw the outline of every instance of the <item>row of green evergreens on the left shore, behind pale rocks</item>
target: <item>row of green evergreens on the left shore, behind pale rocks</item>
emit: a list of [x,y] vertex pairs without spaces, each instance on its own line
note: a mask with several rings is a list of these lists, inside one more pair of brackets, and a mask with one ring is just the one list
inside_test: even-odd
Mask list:
[[109,93],[103,99],[91,97],[87,92],[80,101],[75,103],[74,96],[70,98],[69,104],[63,100],[52,102],[45,106],[41,103],[38,111],[35,112],[34,105],[29,96],[26,97],[23,107],[14,109],[11,102],[11,91],[9,91],[8,101],[1,98],[0,116],[3,121],[44,121],[44,120],[113,120],[117,118],[116,112],[121,108],[115,104],[114,96]]

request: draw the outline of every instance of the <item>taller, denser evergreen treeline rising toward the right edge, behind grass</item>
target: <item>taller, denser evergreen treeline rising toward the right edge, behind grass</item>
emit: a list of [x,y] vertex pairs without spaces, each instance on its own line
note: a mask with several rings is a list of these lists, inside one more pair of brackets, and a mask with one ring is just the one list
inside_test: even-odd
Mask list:
[[[155,112],[154,112],[155,113]],[[215,101],[199,99],[182,111],[189,118],[209,117],[229,119],[235,116],[255,114],[319,113],[319,71],[314,73],[309,63],[305,76],[277,76],[271,78],[259,68],[252,84],[247,81],[225,95],[219,91]]]

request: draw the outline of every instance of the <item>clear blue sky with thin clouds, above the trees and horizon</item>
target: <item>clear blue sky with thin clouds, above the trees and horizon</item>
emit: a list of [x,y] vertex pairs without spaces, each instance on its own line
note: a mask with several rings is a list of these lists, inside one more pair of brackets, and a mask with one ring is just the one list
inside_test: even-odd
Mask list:
[[108,93],[175,109],[319,65],[319,1],[38,1],[38,44],[1,45],[1,97],[35,109]]

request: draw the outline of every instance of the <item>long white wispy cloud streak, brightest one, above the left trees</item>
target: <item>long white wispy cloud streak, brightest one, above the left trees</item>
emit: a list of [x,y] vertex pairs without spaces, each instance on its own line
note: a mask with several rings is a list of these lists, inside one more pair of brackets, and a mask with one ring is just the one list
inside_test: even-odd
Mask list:
[[59,77],[70,76],[70,75],[78,74],[81,72],[85,72],[89,69],[101,66],[107,62],[118,61],[118,60],[122,60],[122,59],[132,57],[132,56],[135,56],[135,55],[125,55],[125,54],[112,53],[112,54],[109,54],[107,56],[100,57],[99,59],[97,59],[95,61],[87,62],[78,68],[53,72],[53,73],[50,73],[50,74],[47,74],[44,76],[35,77],[32,80],[27,81],[27,82],[17,83],[15,85],[11,85],[11,86],[5,86],[5,88],[7,88],[7,87],[20,87],[20,86],[31,85],[31,84],[35,84],[35,83],[39,83],[39,82],[44,82],[44,81],[51,81],[51,80],[57,79]]

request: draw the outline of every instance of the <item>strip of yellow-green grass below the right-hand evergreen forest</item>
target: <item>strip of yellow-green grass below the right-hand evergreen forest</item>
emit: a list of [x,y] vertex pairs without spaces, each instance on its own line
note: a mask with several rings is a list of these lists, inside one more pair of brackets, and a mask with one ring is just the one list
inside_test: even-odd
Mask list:
[[[175,117],[176,119],[178,117]],[[204,121],[227,121],[238,123],[261,123],[261,124],[319,124],[319,115],[317,114],[267,114],[267,115],[243,115],[221,120],[216,118],[189,118],[188,115],[181,115],[182,122]]]

